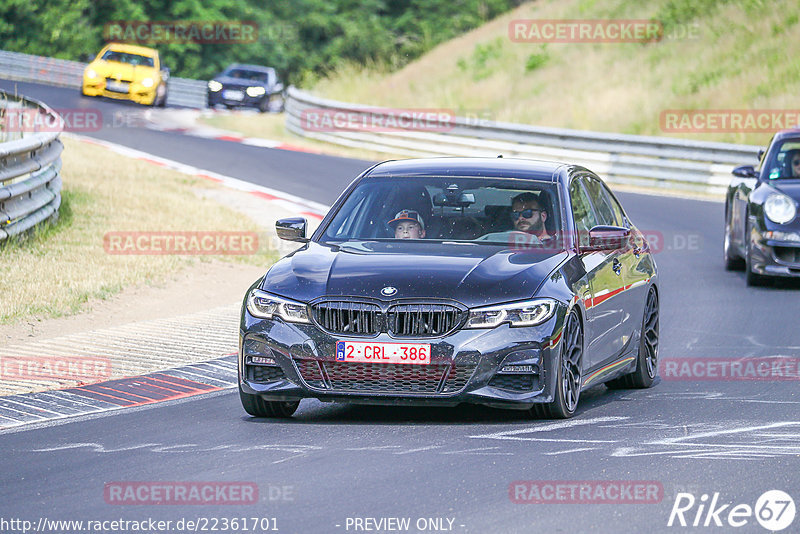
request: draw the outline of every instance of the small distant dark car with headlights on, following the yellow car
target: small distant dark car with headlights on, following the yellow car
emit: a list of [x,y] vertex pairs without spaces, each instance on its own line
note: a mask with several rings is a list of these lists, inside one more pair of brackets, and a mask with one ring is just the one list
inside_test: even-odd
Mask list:
[[272,67],[231,65],[208,82],[208,107],[252,107],[269,111],[282,106],[283,84]]

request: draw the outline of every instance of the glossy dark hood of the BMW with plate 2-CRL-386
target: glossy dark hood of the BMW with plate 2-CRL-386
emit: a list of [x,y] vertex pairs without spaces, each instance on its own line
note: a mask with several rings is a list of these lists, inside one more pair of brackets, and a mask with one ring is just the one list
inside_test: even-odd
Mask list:
[[[261,288],[303,302],[321,296],[447,298],[474,307],[532,297],[566,257],[491,245],[312,242],[279,260]],[[382,296],[387,286],[397,292]]]

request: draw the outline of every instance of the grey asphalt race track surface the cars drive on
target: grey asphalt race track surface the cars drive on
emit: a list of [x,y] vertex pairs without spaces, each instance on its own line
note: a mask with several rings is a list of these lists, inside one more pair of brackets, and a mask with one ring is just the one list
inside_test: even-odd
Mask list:
[[[6,90],[13,85],[0,81]],[[140,109],[83,99],[70,89],[16,85],[54,108]],[[86,135],[324,203],[369,165],[136,126]],[[637,226],[661,236],[662,361],[800,352],[800,286],[747,288],[743,273],[724,271],[722,203],[619,197]],[[293,419],[274,421],[248,417],[229,390],[0,434],[0,516],[34,523],[265,517],[280,532],[349,532],[356,531],[354,518],[390,517],[411,518],[410,532],[420,531],[420,518],[426,532],[435,531],[432,525],[471,533],[707,530],[667,527],[677,493],[699,501],[718,492],[722,504],[751,507],[767,490],[800,495],[798,391],[796,381],[673,378],[649,390],[595,387],[568,421],[469,406],[309,400]],[[104,500],[109,482],[187,480],[254,482],[260,500],[242,506]],[[509,493],[515,481],[590,480],[651,481],[663,496],[650,504],[532,504],[512,502]],[[765,532],[754,517],[732,529],[725,523],[730,508],[719,516],[725,526],[712,531]]]

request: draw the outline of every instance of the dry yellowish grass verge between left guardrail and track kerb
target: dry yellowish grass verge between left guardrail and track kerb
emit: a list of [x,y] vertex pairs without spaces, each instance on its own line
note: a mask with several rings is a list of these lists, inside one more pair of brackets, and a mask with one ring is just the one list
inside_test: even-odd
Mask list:
[[232,232],[261,229],[201,191],[209,182],[64,139],[64,190],[59,220],[0,246],[0,324],[76,313],[136,284],[211,258],[267,266],[265,247],[232,256],[118,255],[103,245],[108,232]]

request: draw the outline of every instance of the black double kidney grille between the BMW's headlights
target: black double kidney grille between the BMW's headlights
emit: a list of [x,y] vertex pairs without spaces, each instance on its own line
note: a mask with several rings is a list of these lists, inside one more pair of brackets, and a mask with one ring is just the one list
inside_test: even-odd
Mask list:
[[383,311],[377,304],[356,301],[323,301],[311,306],[317,325],[333,334],[374,336],[389,332],[395,337],[443,336],[458,327],[462,311],[451,304],[395,304]]

